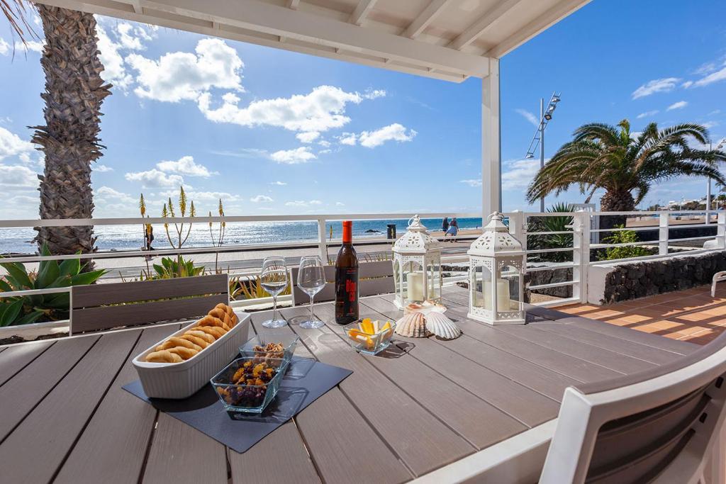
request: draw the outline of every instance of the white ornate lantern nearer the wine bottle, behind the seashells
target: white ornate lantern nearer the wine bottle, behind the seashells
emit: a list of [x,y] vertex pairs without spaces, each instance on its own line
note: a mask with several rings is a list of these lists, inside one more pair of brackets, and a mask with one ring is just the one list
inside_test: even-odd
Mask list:
[[441,300],[441,243],[428,234],[417,215],[393,244],[393,279],[399,308]]

